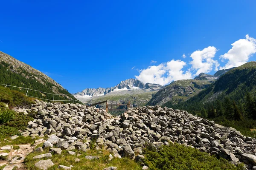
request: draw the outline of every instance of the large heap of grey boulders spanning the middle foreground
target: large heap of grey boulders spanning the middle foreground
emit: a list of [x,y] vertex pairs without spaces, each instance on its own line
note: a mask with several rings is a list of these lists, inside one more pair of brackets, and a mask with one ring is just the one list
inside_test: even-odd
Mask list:
[[[61,150],[73,149],[86,152],[90,143],[96,142],[96,148],[104,147],[114,157],[134,158],[142,154],[145,143],[158,148],[177,142],[228,159],[235,165],[243,162],[245,169],[256,168],[256,139],[186,111],[144,106],[113,117],[100,108],[36,101],[26,112],[36,115],[22,135],[48,136],[38,150],[49,147],[59,154]],[[51,153],[37,158],[46,156],[51,166]],[[88,156],[87,159],[97,158]]]

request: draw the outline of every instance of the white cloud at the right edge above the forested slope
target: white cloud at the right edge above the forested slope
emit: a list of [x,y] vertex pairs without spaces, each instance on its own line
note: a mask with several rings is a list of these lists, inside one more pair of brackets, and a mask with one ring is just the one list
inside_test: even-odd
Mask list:
[[247,34],[246,39],[240,39],[231,44],[233,47],[224,55],[221,55],[221,61],[227,59],[227,63],[220,69],[227,69],[237,67],[248,62],[249,58],[256,53],[256,40],[249,37]]

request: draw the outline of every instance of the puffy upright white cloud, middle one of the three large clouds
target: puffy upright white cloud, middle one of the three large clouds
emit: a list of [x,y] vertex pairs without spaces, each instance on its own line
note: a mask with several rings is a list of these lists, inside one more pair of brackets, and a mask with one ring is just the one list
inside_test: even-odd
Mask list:
[[218,71],[219,63],[217,60],[213,60],[217,49],[213,46],[204,48],[203,50],[194,51],[190,57],[193,59],[190,64],[191,69],[195,70],[195,75],[200,73],[209,73],[215,67],[215,71]]

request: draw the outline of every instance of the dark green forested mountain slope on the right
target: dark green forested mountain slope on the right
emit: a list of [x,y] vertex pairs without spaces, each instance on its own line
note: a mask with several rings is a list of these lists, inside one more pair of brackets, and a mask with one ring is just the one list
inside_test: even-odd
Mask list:
[[215,83],[185,102],[175,105],[169,101],[164,106],[200,111],[203,107],[209,108],[216,100],[223,102],[224,97],[229,97],[236,102],[243,100],[246,92],[256,96],[256,62],[247,62],[224,72]]

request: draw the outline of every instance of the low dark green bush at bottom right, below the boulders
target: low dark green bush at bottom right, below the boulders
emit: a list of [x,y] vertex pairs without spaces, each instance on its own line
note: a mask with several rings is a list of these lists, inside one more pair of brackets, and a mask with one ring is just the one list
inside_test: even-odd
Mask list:
[[242,170],[242,164],[235,167],[225,159],[182,144],[169,143],[157,151],[145,147],[144,152],[150,170]]

